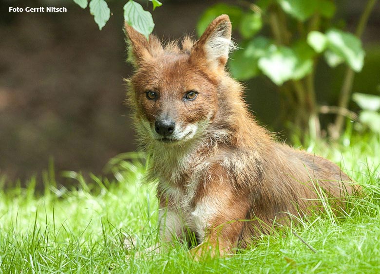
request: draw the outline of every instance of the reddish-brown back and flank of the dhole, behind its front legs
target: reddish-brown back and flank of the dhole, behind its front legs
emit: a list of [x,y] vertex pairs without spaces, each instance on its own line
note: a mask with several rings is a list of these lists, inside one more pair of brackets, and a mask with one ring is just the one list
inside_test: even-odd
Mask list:
[[347,197],[359,187],[338,167],[323,157],[272,143],[265,174],[251,193],[251,208],[240,244],[252,236],[270,233],[278,225],[288,224],[292,216],[302,218],[311,212],[324,211],[326,204],[334,212],[344,210]]

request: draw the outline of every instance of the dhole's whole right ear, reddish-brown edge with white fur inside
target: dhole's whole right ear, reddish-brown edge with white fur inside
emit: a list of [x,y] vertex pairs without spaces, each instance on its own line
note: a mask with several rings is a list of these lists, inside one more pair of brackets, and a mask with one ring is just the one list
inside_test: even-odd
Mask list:
[[228,53],[234,49],[231,42],[231,22],[224,14],[215,18],[191,50],[192,58],[206,59],[214,69],[224,69]]

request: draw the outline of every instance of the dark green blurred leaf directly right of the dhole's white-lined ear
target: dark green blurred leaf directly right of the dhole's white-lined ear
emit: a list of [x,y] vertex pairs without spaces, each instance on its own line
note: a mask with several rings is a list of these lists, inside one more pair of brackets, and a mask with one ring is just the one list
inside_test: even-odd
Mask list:
[[242,44],[242,48],[233,52],[228,62],[232,76],[238,80],[247,80],[260,73],[257,62],[266,54],[270,42],[265,37],[256,37]]

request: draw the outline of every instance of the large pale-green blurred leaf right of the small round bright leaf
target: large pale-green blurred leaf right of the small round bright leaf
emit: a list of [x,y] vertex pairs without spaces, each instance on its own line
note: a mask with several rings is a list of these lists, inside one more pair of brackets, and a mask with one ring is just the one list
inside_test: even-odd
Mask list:
[[342,57],[355,72],[360,72],[363,68],[365,55],[361,47],[361,40],[351,33],[338,29],[328,30],[326,37],[328,48]]

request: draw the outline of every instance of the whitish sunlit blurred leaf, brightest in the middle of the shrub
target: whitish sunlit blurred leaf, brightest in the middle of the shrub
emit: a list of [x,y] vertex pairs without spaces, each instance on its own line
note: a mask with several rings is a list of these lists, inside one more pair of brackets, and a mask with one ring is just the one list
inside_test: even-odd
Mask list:
[[265,56],[259,59],[259,68],[276,85],[281,86],[293,76],[298,62],[294,51],[287,47],[273,46]]

